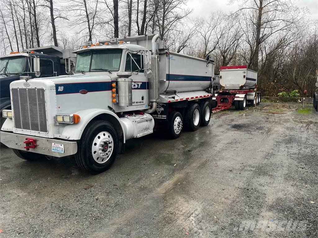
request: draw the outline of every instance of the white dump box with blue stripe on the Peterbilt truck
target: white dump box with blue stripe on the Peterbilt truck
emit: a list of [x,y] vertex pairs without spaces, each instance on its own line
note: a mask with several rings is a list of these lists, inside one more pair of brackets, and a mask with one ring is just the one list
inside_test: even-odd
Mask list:
[[159,69],[160,94],[206,90],[212,83],[214,60],[169,52],[160,55]]

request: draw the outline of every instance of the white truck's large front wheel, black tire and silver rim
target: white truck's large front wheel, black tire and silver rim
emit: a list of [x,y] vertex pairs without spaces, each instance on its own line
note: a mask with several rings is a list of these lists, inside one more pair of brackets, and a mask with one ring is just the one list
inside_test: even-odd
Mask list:
[[113,124],[102,120],[93,121],[85,128],[78,142],[75,161],[79,168],[90,174],[102,173],[113,165],[118,145],[118,135]]

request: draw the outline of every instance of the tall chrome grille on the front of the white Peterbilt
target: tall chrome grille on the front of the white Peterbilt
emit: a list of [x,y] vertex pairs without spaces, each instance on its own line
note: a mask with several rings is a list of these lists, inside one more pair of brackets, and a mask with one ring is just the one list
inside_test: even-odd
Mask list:
[[14,126],[47,132],[44,89],[11,89]]

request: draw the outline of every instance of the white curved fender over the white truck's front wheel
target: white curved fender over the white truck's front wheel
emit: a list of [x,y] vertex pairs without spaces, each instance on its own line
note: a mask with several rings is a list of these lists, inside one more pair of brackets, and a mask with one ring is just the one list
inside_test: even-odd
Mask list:
[[[105,109],[86,109],[78,112],[74,112],[74,114],[78,114],[80,116],[80,121],[77,124],[59,124],[59,135],[54,135],[55,137],[59,137],[62,139],[67,140],[79,140],[83,134],[84,129],[86,128],[87,124],[92,121],[95,117],[100,115],[109,115],[112,117],[112,120],[116,120],[122,130],[123,134],[123,143],[125,143],[125,130],[123,124],[119,117],[112,111],[105,110]],[[114,125],[116,126],[116,125]]]

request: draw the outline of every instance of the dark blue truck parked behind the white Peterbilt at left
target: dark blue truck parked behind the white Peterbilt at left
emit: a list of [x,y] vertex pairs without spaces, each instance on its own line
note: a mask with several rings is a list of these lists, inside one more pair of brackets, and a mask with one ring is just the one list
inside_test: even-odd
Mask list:
[[20,78],[43,78],[73,74],[76,59],[73,51],[51,45],[0,56],[1,126],[6,119],[2,117],[2,110],[11,109],[10,83]]

